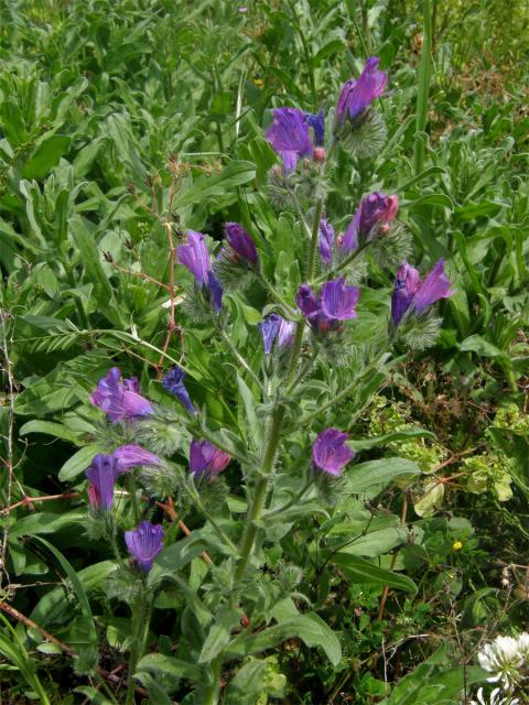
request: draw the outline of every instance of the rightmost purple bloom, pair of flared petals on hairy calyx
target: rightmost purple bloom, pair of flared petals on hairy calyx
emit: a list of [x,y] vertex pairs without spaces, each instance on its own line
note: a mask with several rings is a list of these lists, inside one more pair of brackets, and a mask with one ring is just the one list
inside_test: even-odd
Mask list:
[[444,261],[439,260],[432,271],[421,281],[419,272],[408,262],[403,262],[395,279],[391,296],[391,318],[397,326],[407,311],[421,313],[440,299],[447,299],[454,293],[452,284],[444,273]]

